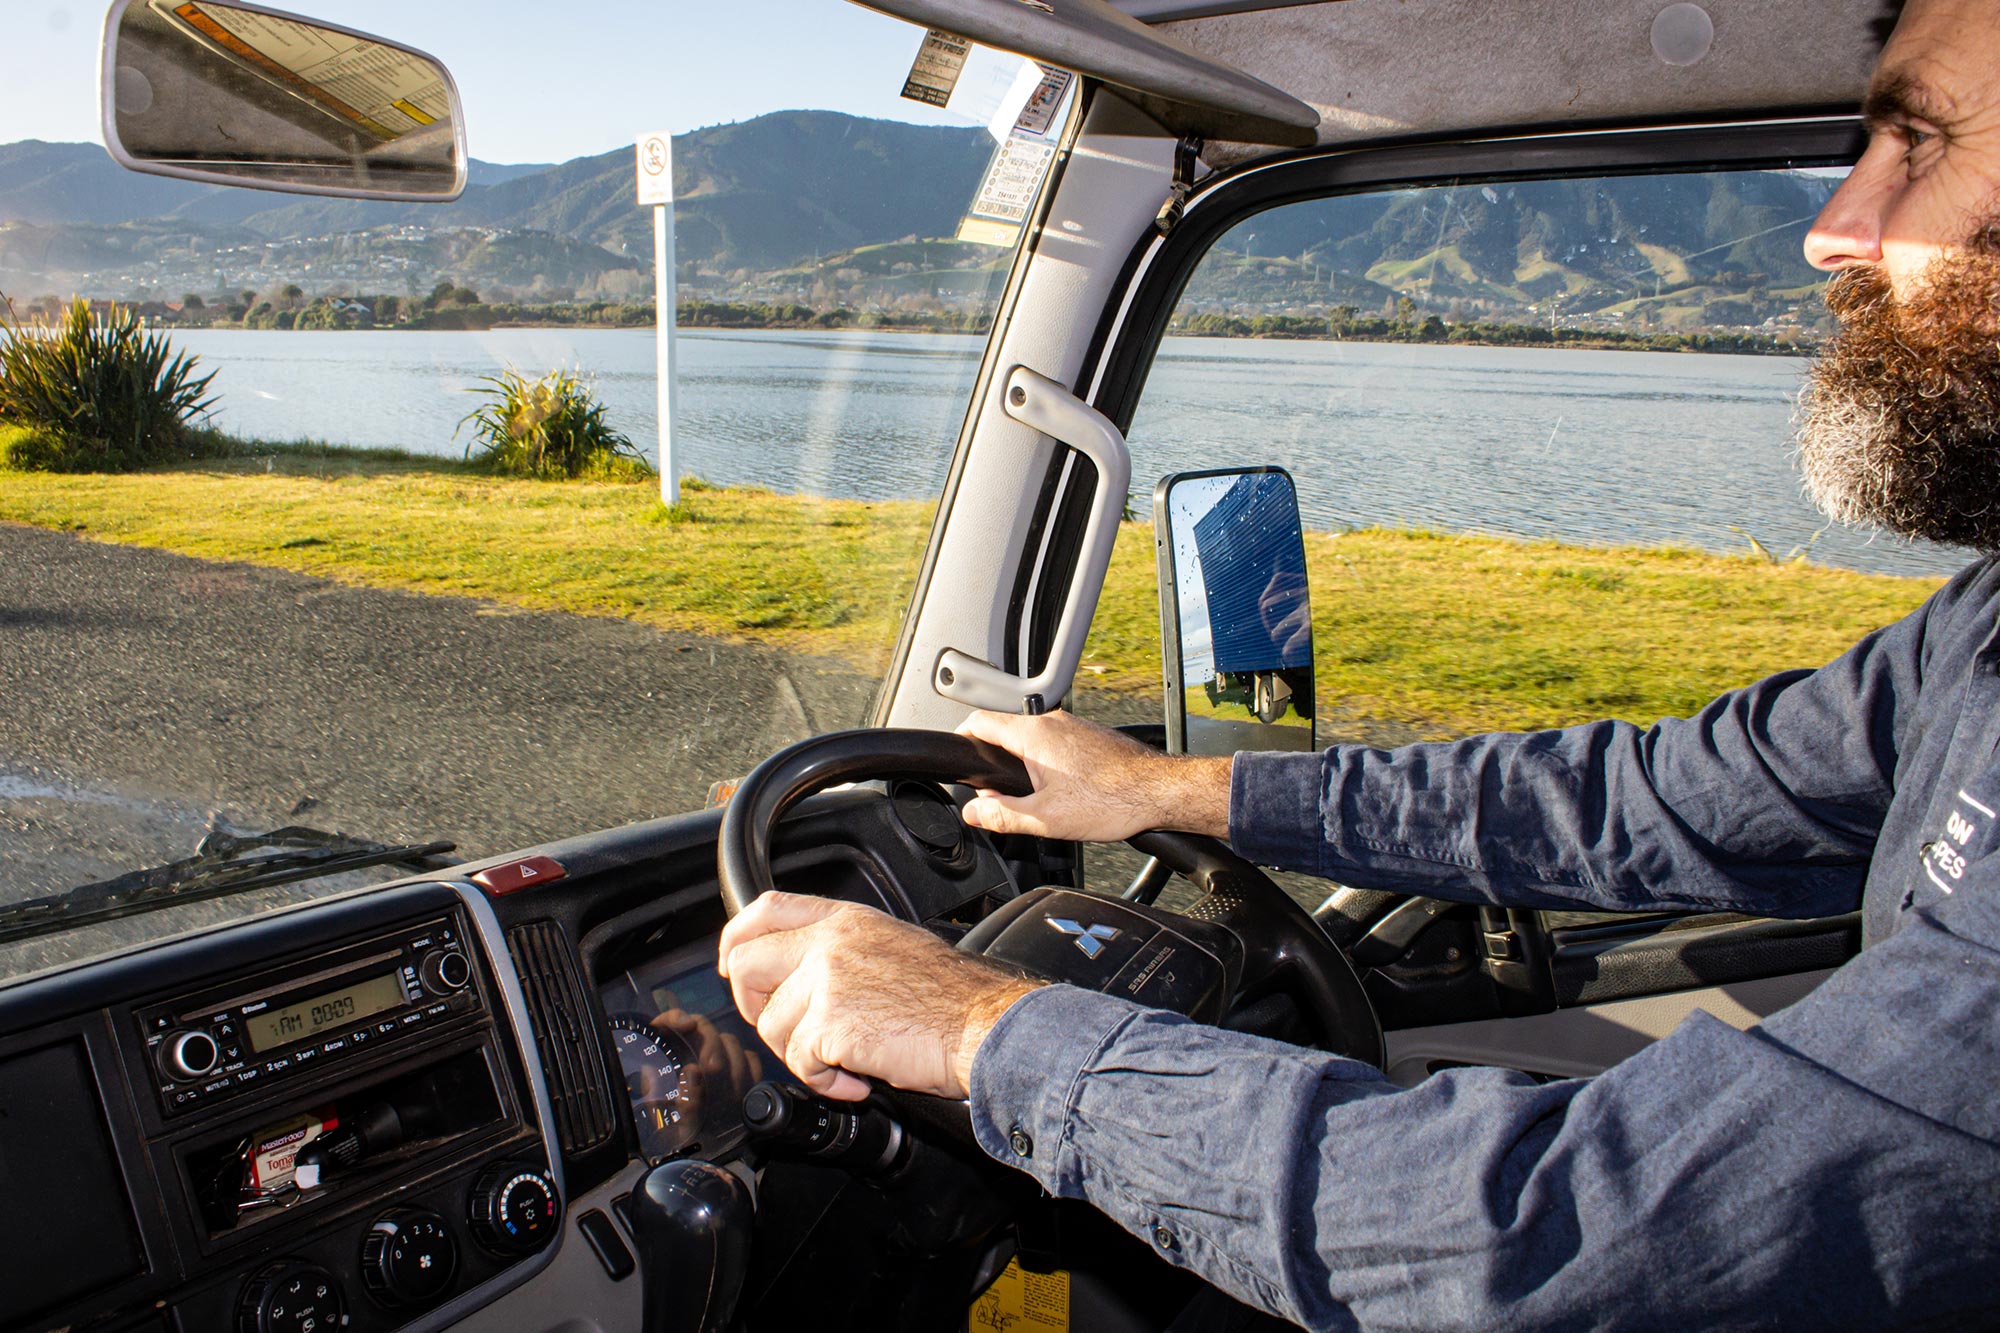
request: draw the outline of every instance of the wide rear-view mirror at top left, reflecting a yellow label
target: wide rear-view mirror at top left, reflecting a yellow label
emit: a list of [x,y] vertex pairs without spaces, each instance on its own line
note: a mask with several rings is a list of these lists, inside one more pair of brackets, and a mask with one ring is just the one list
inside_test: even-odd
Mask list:
[[458,88],[430,56],[236,0],[118,0],[104,146],[154,176],[448,202],[466,188]]

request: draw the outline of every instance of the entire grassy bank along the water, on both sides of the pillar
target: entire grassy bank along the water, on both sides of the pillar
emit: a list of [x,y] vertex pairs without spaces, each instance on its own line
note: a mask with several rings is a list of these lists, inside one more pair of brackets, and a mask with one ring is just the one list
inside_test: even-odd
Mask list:
[[[0,428],[0,454],[6,432]],[[246,446],[136,476],[0,474],[0,520],[828,652],[894,644],[928,502],[502,480],[394,452]],[[1650,723],[1830,660],[1936,580],[1692,550],[1406,530],[1308,536],[1322,717],[1448,737]],[[1152,532],[1128,524],[1080,685],[1158,695]]]

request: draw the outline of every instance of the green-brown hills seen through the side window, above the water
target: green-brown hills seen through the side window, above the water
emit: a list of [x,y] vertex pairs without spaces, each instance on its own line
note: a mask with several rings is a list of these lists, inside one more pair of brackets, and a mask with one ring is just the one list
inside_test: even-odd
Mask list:
[[1218,242],[1184,312],[1804,330],[1824,274],[1800,240],[1834,182],[1712,172],[1468,184],[1278,208]]

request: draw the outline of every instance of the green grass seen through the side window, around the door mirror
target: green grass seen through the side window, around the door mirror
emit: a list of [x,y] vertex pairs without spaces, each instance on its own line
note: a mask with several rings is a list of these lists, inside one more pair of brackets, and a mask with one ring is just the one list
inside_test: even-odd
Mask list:
[[[1420,737],[1652,723],[1902,618],[1936,578],[1674,548],[1364,528],[1306,536],[1322,731]],[[1160,689],[1150,532],[1126,532],[1082,683]]]

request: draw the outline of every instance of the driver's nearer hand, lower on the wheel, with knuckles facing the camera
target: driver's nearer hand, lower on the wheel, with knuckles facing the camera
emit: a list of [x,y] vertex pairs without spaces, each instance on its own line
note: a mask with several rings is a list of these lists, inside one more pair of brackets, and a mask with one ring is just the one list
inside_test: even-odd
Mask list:
[[838,1101],[866,1079],[964,1097],[986,1033],[1038,985],[872,907],[794,893],[738,913],[718,967],[764,1045]]

